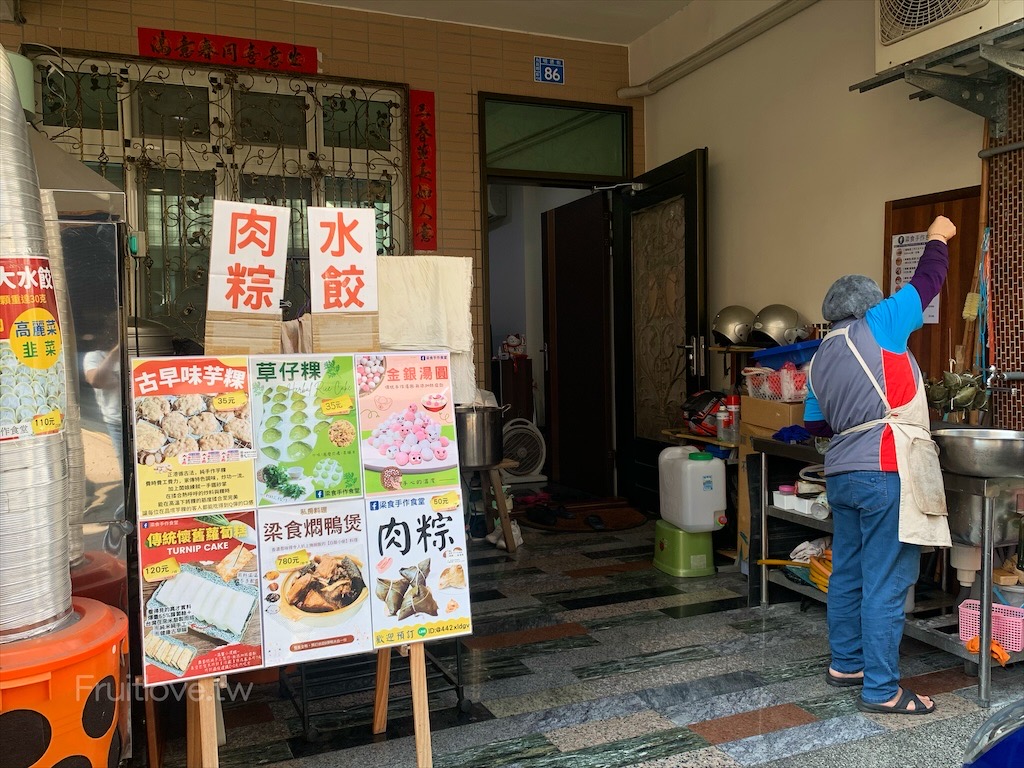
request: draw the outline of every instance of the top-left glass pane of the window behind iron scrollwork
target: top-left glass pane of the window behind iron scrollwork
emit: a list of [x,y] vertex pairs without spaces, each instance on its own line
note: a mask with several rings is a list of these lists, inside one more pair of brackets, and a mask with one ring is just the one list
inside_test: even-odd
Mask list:
[[110,75],[49,70],[43,80],[43,125],[117,130],[117,80]]

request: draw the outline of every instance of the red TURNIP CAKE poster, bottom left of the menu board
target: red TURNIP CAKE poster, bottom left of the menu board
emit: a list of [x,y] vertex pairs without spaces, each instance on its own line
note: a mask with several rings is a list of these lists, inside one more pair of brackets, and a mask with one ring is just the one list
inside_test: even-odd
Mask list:
[[263,666],[256,514],[142,520],[146,685]]

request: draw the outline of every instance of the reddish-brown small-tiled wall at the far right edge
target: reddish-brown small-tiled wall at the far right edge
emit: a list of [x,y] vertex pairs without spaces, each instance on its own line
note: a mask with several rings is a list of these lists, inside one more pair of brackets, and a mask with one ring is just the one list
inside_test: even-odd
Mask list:
[[[1024,141],[1024,81],[1010,80],[1008,130],[993,146]],[[994,362],[1001,371],[1024,371],[1024,150],[996,155],[988,172]],[[995,426],[1024,429],[1024,395],[996,393],[993,400]]]

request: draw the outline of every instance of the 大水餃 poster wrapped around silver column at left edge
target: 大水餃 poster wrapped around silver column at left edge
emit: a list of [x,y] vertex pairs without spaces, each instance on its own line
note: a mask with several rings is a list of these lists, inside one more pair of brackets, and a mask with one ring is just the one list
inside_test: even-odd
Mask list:
[[0,258],[0,440],[63,429],[63,345],[49,263]]

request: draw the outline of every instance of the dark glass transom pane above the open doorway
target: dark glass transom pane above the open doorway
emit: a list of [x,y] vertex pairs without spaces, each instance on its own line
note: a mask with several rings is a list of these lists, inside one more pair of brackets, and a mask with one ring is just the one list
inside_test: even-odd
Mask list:
[[622,110],[487,98],[487,169],[627,178],[628,118]]

